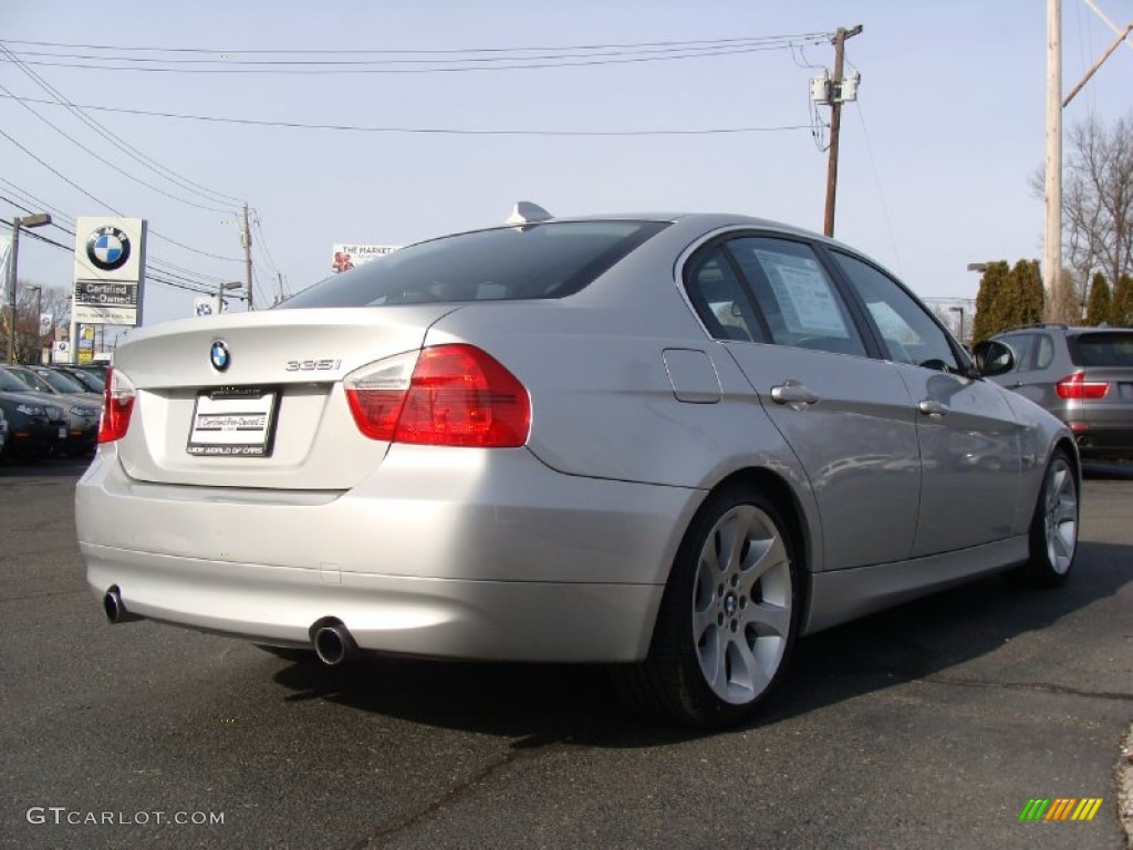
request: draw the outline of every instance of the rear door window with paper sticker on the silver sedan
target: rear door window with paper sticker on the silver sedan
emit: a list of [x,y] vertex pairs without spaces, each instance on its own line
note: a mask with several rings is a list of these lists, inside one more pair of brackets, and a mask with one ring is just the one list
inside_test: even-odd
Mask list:
[[809,246],[741,237],[727,244],[778,346],[866,356],[842,297]]

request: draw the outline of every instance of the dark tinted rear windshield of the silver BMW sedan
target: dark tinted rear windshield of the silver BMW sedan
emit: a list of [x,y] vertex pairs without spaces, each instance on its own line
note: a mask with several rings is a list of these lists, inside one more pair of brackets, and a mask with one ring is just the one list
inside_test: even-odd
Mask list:
[[563,221],[448,236],[332,275],[279,308],[563,298],[665,227]]

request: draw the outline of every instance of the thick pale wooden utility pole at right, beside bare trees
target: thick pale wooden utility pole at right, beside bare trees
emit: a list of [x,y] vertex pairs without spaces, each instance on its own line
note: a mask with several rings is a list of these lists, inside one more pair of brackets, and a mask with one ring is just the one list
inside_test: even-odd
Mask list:
[[1057,312],[1062,295],[1062,0],[1047,0],[1047,232],[1042,255],[1047,318]]

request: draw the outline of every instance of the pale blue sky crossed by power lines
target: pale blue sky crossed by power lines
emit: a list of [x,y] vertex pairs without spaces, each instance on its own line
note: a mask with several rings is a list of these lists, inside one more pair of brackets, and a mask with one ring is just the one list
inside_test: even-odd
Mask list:
[[[1091,2],[1117,24],[1133,22],[1133,0]],[[214,291],[244,278],[235,213],[246,201],[261,305],[272,300],[279,274],[291,292],[326,277],[334,243],[406,245],[489,227],[520,199],[556,215],[731,212],[820,231],[828,134],[816,137],[815,128],[829,110],[811,105],[809,79],[833,71],[825,36],[862,25],[846,42],[846,70],[860,73],[861,85],[858,101],[842,111],[835,237],[925,298],[973,298],[979,275],[966,271],[969,263],[1042,256],[1043,205],[1030,178],[1045,151],[1046,7],[1042,0],[10,2],[0,12],[0,42],[24,65],[0,54],[7,134],[0,135],[0,216],[46,209],[57,221],[63,221],[58,213],[113,211],[144,218],[151,274],[161,264],[167,280]],[[741,50],[774,36],[799,37],[792,46]],[[1085,0],[1063,0],[1064,92],[1114,37]],[[724,45],[735,49],[721,49],[723,40],[738,40]],[[654,52],[624,46],[642,44]],[[588,45],[622,46],[579,50]],[[469,50],[482,52],[436,52]],[[353,66],[367,73],[246,73],[264,66],[245,62],[280,58],[257,51],[406,52],[286,57],[402,60]],[[591,56],[576,58],[582,53]],[[640,61],[661,56],[682,58]],[[129,62],[194,73],[90,67],[105,66],[108,57],[213,61]],[[528,67],[483,70],[500,65],[485,59],[502,57],[525,57],[511,65]],[[423,61],[438,58],[449,65]],[[453,58],[476,61],[454,66]],[[553,67],[530,67],[539,65]],[[1064,111],[1067,130],[1091,112],[1102,122],[1128,114],[1131,74],[1133,49],[1122,48]],[[36,102],[54,100],[41,83],[120,142],[58,103]],[[656,135],[673,130],[682,133]],[[556,135],[563,133],[632,135]],[[178,181],[142,168],[121,142]],[[20,279],[69,289],[74,237],[56,227],[36,232],[67,250],[22,238]],[[145,323],[190,316],[196,295],[152,278]]]

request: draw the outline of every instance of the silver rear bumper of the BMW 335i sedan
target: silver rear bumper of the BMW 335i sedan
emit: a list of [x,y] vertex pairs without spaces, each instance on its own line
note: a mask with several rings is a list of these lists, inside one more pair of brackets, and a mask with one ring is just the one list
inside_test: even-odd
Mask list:
[[561,475],[525,449],[394,445],[347,493],[79,482],[87,581],[133,614],[265,644],[341,621],[363,649],[645,657],[699,491]]

